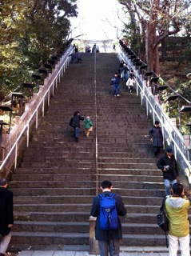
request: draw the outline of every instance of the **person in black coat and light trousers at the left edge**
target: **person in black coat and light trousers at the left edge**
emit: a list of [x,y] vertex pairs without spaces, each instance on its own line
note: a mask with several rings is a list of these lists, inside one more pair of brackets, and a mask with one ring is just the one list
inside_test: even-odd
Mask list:
[[6,254],[11,238],[10,229],[14,224],[13,193],[6,187],[6,178],[0,178],[0,256]]

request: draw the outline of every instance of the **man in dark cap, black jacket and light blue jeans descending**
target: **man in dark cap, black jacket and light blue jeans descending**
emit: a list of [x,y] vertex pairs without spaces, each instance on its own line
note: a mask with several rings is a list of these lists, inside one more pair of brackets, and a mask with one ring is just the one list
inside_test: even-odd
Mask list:
[[167,147],[165,154],[157,161],[157,167],[162,171],[165,182],[165,194],[170,195],[170,183],[173,186],[177,182],[178,170],[177,161],[174,158],[173,150]]

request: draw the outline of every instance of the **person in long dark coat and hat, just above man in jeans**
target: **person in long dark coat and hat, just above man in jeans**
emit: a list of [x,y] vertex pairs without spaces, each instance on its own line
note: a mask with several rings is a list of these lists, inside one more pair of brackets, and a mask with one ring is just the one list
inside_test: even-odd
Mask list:
[[150,141],[153,142],[154,155],[157,156],[163,147],[163,136],[158,121],[155,121],[154,126],[149,130],[149,137]]

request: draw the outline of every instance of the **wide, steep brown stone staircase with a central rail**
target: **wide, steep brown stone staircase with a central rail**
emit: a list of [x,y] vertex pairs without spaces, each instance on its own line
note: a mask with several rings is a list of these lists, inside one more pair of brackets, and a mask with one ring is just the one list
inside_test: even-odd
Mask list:
[[[148,138],[151,124],[125,82],[121,97],[113,97],[109,82],[118,66],[115,54],[97,54],[95,76],[94,54],[83,54],[81,64],[66,70],[9,184],[14,192],[12,249],[88,245],[90,207],[105,179],[127,208],[121,244],[165,246],[156,224],[165,191]],[[94,123],[90,138],[82,123],[78,143],[68,125],[75,110]]]

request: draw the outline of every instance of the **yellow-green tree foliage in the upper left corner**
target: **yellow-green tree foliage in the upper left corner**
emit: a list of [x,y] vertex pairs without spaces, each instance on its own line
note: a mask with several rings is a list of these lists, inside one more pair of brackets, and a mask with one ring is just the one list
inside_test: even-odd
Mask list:
[[0,93],[22,90],[31,74],[64,46],[77,0],[0,2]]

